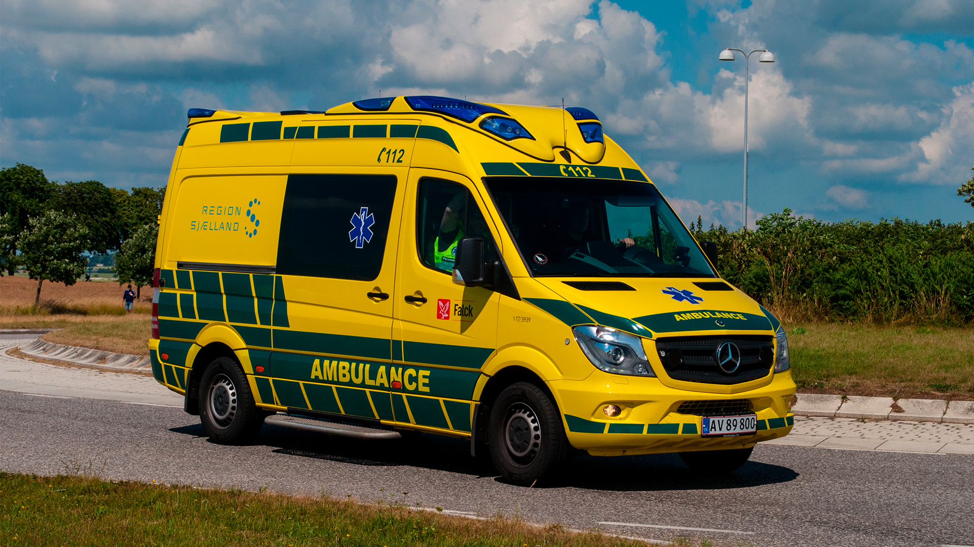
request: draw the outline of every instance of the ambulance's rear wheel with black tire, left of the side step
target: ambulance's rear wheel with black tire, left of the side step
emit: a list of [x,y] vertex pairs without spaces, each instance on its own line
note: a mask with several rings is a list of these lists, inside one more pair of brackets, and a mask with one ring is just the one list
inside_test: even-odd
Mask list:
[[237,361],[217,357],[200,379],[200,421],[210,440],[221,445],[252,441],[270,413],[257,408]]

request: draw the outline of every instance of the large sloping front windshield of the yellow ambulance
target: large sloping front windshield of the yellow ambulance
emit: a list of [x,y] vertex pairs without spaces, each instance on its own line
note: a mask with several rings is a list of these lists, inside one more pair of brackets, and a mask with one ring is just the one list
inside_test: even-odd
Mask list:
[[535,275],[716,276],[652,184],[543,177],[485,183]]

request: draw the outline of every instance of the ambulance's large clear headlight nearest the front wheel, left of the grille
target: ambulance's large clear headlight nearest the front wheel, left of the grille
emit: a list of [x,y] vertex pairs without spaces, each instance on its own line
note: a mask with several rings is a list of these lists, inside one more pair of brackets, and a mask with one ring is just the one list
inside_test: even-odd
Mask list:
[[582,353],[599,369],[613,374],[656,376],[638,336],[597,325],[581,325],[572,331]]

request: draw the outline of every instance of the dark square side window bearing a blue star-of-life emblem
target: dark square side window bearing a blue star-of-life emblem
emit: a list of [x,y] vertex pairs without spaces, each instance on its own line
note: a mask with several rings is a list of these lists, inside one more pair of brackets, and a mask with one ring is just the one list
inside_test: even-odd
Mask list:
[[378,277],[395,184],[393,175],[290,175],[277,273],[361,281]]

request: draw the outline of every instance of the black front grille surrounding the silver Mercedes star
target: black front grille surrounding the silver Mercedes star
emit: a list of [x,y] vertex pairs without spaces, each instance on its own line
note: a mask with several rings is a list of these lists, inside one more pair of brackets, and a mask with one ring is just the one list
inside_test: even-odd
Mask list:
[[[730,342],[740,350],[740,364],[732,372],[718,366],[717,351]],[[774,362],[770,336],[686,336],[656,340],[656,355],[673,380],[699,383],[744,383],[768,376]],[[725,368],[730,369],[729,364]]]

